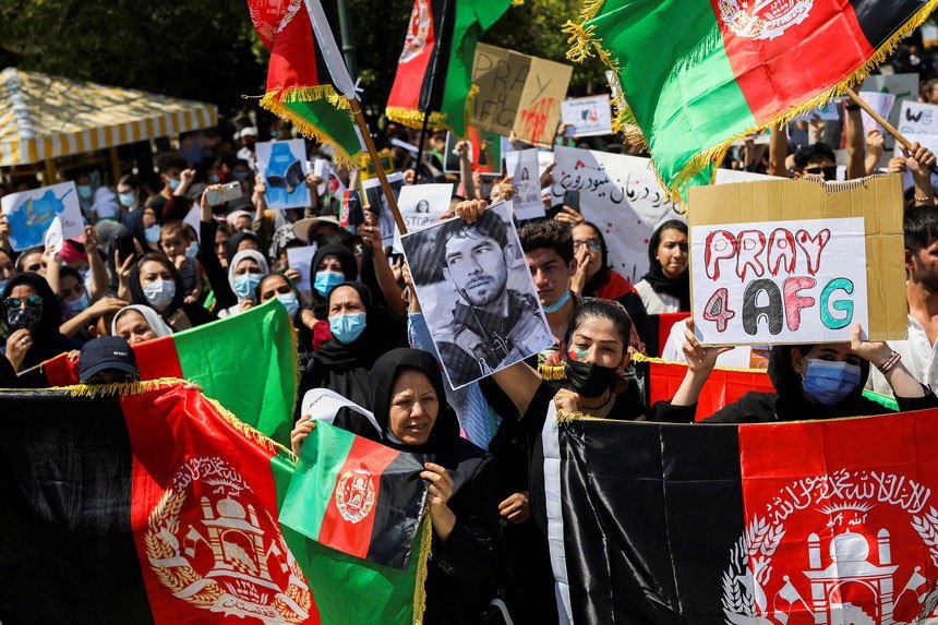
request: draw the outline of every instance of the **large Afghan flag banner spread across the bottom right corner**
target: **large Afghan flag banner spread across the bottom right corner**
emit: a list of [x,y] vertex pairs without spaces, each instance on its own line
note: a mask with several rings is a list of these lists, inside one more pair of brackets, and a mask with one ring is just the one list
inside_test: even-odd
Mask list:
[[551,418],[543,443],[572,623],[938,618],[938,410],[755,425]]

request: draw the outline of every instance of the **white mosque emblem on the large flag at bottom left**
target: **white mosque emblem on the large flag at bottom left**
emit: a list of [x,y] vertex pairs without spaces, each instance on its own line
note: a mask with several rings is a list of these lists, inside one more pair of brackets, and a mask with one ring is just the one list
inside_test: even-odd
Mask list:
[[265,625],[310,616],[305,576],[277,521],[221,458],[192,458],[179,468],[143,540],[159,582],[194,608]]

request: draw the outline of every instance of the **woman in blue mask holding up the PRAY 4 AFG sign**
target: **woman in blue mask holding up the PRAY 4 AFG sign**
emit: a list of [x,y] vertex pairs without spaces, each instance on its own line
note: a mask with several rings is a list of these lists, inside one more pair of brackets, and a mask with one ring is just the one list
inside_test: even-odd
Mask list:
[[[674,395],[674,402],[695,404],[717,357],[732,348],[703,347],[687,321],[684,354],[687,374]],[[850,342],[777,345],[769,356],[769,378],[775,393],[749,392],[724,406],[708,423],[763,423],[838,419],[888,412],[881,404],[863,396],[869,365],[882,372],[899,404],[899,410],[922,410],[938,406],[938,398],[915,380],[899,354],[882,341],[861,339],[856,324]]]

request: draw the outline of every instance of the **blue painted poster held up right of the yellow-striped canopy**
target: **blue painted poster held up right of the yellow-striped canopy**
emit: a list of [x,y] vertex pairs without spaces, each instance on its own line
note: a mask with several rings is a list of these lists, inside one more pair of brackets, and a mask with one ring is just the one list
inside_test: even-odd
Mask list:
[[310,205],[306,145],[302,139],[256,144],[257,171],[267,185],[267,206],[273,211]]

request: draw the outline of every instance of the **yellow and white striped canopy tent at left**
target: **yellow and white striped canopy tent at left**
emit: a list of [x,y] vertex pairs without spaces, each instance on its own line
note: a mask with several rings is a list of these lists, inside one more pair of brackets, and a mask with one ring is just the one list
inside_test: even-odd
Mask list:
[[[214,105],[24,72],[0,72],[0,167],[211,128]],[[111,151],[112,159],[116,149]]]

